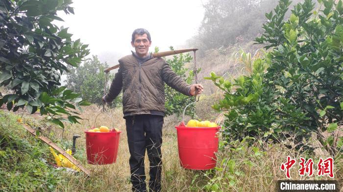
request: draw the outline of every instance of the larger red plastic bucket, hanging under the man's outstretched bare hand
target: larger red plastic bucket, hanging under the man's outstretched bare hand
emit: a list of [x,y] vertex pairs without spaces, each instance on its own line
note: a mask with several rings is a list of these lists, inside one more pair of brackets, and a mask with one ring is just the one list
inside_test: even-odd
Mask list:
[[209,170],[216,167],[218,151],[216,128],[175,126],[180,164],[185,169]]

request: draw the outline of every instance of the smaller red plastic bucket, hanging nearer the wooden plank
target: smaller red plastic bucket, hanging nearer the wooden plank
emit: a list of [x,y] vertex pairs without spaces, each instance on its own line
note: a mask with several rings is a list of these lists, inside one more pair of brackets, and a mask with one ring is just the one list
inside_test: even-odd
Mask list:
[[92,165],[106,165],[117,160],[120,133],[88,132],[86,133],[87,162]]

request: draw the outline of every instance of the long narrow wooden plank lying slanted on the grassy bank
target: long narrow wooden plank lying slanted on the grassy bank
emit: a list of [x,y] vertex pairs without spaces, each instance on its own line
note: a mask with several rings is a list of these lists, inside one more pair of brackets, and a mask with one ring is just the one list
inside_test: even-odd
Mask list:
[[[30,132],[32,135],[36,136],[36,131],[33,128],[30,128],[29,126],[23,124],[24,128]],[[55,143],[53,143],[52,141],[50,141],[47,137],[45,136],[38,136],[39,139],[41,139],[42,141],[44,141],[46,144],[48,144],[49,146],[51,146],[53,149],[56,149],[59,153],[61,153],[63,156],[65,156],[69,161],[71,161],[76,167],[78,167],[81,171],[83,171],[84,173],[86,173],[87,176],[90,176],[91,171],[87,170],[86,168],[84,168],[82,166],[82,164],[77,161],[76,159],[73,158],[72,155],[68,154],[65,150],[63,150],[62,148],[58,147]]]

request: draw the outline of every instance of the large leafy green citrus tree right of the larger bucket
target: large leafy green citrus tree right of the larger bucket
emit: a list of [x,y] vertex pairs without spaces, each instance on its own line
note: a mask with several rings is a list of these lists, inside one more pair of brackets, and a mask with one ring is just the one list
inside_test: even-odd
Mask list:
[[[280,0],[266,14],[264,34],[256,38],[269,49],[253,64],[252,74],[234,83],[212,73],[207,79],[225,91],[213,107],[227,110],[226,138],[254,136],[306,149],[312,133],[332,155],[342,151],[343,3],[305,0],[285,20],[290,0]],[[327,132],[327,134],[323,134]]]

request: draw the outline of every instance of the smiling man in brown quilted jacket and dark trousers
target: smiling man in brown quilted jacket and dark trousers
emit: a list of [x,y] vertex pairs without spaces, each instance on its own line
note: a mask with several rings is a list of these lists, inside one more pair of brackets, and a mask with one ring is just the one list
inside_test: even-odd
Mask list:
[[150,162],[149,191],[161,191],[161,145],[165,112],[164,83],[177,91],[193,96],[200,94],[200,84],[188,85],[175,74],[162,58],[148,53],[150,33],[136,29],[132,33],[132,47],[136,52],[119,60],[119,70],[102,99],[112,102],[123,88],[123,113],[126,120],[127,141],[130,151],[132,191],[145,192],[144,157],[147,150]]

